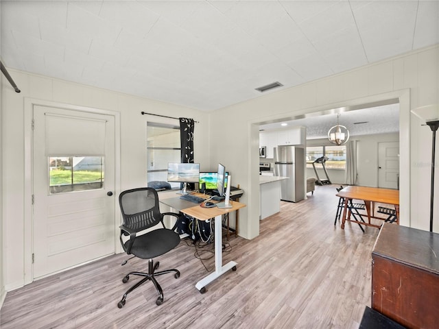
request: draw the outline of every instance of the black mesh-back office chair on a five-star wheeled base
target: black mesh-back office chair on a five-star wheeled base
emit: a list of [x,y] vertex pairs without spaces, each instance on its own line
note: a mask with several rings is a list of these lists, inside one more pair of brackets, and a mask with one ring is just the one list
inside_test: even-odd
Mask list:
[[[163,217],[165,215],[171,215],[177,218],[180,215],[174,212],[164,212],[162,214],[158,207],[157,192],[154,188],[149,187],[123,191],[119,195],[119,206],[121,207],[123,217],[123,223],[120,226],[120,240],[123,250],[125,250],[127,254],[148,259],[148,272],[132,271],[123,277],[123,283],[128,282],[131,275],[143,276],[144,278],[126,291],[121,301],[117,304],[117,307],[122,308],[123,305],[125,305],[128,293],[147,280],[151,280],[152,283],[154,283],[158,293],[156,304],[161,305],[163,303],[163,290],[155,277],[165,273],[175,272],[174,277],[179,278],[180,271],[177,269],[156,271],[159,262],[154,264],[152,258],[166,254],[180,243],[180,236],[174,229],[169,230],[165,228],[165,224],[163,223]],[[152,228],[159,223],[161,223],[161,228],[138,235],[139,232]],[[126,236],[130,236],[130,238],[127,240]]]

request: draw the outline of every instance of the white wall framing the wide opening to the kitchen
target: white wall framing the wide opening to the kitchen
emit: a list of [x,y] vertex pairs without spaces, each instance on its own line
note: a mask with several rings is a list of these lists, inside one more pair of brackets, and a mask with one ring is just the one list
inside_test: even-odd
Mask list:
[[[211,136],[222,136],[222,140],[211,142],[211,147],[217,149],[211,158],[224,159],[246,191],[247,208],[239,219],[240,227],[246,229],[241,234],[250,239],[259,234],[259,229],[255,229],[259,228],[259,197],[254,197],[259,191],[259,132],[254,126],[275,119],[293,119],[299,114],[394,98],[399,99],[401,110],[401,223],[428,230],[429,191],[425,186],[429,186],[429,173],[414,164],[431,161],[431,132],[421,126],[410,109],[439,102],[438,63],[436,45],[214,111]],[[233,134],[225,134],[224,127]],[[436,204],[436,232],[439,232],[438,215]]]

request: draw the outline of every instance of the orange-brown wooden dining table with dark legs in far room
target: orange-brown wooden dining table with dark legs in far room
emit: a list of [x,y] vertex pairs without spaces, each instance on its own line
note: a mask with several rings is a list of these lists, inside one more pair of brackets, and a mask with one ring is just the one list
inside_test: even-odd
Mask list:
[[[337,193],[337,197],[344,197],[344,210],[342,216],[342,229],[344,229],[345,221],[351,221],[353,223],[359,223],[361,225],[373,226],[375,228],[381,228],[379,225],[375,225],[370,222],[371,218],[382,219],[381,217],[375,217],[374,210],[371,204],[379,202],[381,204],[389,204],[394,206],[396,211],[396,223],[399,223],[399,191],[391,188],[379,188],[379,187],[366,187],[366,186],[346,186],[340,192]],[[355,221],[348,218],[348,203],[349,200],[363,200],[366,206],[366,212],[368,215],[368,221]]]

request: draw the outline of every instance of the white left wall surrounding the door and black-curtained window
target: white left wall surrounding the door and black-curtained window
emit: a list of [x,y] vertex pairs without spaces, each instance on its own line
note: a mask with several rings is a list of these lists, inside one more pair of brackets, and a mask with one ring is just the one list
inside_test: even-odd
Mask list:
[[[25,122],[25,118],[29,117],[28,112],[32,110],[25,106],[29,99],[41,99],[120,113],[121,186],[120,191],[115,191],[115,195],[119,195],[121,191],[128,188],[146,185],[147,121],[178,125],[178,120],[142,115],[142,111],[169,117],[190,117],[200,121],[195,124],[195,161],[209,163],[209,153],[205,151],[209,149],[209,115],[206,112],[12,69],[8,71],[21,89],[21,93],[15,93],[7,80],[3,78],[2,195],[5,232],[2,237],[5,249],[1,265],[2,268],[4,265],[5,269],[2,287],[4,285],[7,291],[23,286],[25,269],[32,269],[29,265],[32,245],[24,239],[24,236],[32,236],[32,233],[29,233],[32,221],[27,215],[30,214],[30,204],[27,203],[30,191],[25,191],[25,186],[32,186],[28,172],[30,164],[25,163],[30,156],[24,152],[25,143],[26,145],[31,143],[29,136],[32,135],[31,122]],[[209,167],[209,165],[206,166]],[[119,245],[119,241],[116,243]]]

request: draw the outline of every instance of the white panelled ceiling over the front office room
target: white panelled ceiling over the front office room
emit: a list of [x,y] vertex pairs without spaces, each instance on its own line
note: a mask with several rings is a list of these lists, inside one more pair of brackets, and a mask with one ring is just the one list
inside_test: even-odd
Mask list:
[[6,67],[200,110],[439,43],[438,1],[0,3]]

